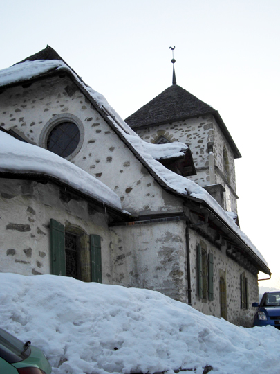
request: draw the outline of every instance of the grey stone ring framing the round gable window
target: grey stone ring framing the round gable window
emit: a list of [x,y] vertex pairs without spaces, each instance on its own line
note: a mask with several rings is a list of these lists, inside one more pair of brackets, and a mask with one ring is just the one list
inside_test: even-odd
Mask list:
[[48,136],[50,132],[57,125],[63,122],[75,123],[75,125],[77,125],[79,132],[80,132],[80,141],[77,145],[77,148],[74,150],[74,152],[69,154],[69,156],[64,157],[66,160],[70,161],[80,151],[80,149],[82,148],[82,144],[84,143],[84,125],[82,124],[82,121],[80,120],[80,118],[77,118],[76,116],[74,116],[74,114],[63,113],[63,114],[57,114],[56,116],[53,116],[52,118],[50,118],[50,120],[48,120],[46,125],[44,125],[43,130],[41,130],[41,134],[39,136],[39,146],[47,150],[48,149],[47,141],[48,141]]

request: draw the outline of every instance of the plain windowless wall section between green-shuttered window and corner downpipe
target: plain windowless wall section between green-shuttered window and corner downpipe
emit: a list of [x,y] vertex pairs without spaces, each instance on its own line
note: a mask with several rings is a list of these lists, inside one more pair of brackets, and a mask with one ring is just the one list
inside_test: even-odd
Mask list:
[[111,228],[119,237],[114,283],[187,302],[185,222]]

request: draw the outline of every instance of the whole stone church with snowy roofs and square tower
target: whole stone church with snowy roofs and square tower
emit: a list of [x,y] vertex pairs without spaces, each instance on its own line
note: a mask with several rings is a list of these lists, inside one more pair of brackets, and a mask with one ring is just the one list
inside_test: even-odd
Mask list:
[[176,84],[123,121],[47,46],[0,71],[0,271],[156,290],[252,325],[261,253],[239,228],[216,110]]

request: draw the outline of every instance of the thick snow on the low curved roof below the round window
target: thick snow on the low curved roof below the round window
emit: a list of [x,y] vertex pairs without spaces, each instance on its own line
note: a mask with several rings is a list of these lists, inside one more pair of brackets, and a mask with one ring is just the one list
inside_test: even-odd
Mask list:
[[55,177],[95,199],[122,209],[111,188],[57,154],[19,141],[0,131],[0,171],[44,174]]

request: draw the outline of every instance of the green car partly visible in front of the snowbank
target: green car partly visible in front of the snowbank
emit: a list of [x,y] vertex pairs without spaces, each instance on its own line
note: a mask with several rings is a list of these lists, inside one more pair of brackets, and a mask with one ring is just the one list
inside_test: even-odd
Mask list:
[[50,374],[52,368],[44,353],[23,343],[0,328],[0,373],[1,374]]

